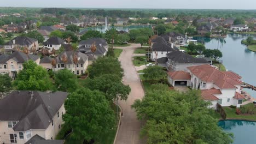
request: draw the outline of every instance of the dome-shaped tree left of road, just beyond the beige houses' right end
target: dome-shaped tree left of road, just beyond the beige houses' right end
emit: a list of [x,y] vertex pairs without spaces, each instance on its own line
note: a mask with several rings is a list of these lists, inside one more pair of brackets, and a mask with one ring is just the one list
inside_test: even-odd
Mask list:
[[[99,57],[88,68],[89,77],[94,78],[103,74],[115,74],[119,78],[123,77],[123,69],[117,58],[114,57]],[[117,77],[117,78],[118,78]]]

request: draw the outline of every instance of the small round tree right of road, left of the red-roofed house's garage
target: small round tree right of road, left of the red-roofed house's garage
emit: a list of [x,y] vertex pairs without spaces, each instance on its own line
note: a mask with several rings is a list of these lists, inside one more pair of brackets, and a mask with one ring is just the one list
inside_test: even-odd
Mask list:
[[155,65],[155,66],[149,66],[146,69],[144,69],[143,76],[148,81],[158,82],[162,79],[165,79],[167,75],[166,75],[166,72],[162,69],[162,67]]

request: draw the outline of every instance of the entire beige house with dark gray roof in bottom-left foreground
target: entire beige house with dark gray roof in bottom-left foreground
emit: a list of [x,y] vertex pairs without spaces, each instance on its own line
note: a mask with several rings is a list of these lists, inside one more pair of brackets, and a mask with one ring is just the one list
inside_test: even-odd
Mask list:
[[13,91],[1,99],[0,143],[24,144],[36,135],[54,140],[64,123],[67,95],[66,92]]

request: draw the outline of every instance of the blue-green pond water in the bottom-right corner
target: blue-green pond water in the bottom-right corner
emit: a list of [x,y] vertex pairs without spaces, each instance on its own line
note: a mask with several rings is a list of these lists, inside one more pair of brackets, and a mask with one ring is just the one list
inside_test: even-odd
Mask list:
[[219,121],[218,125],[224,131],[234,134],[234,144],[256,143],[256,123],[248,121],[228,120]]

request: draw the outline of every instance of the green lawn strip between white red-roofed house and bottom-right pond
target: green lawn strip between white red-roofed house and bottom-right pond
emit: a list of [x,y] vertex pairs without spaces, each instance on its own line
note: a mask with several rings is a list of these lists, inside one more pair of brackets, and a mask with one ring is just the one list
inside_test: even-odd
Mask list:
[[230,119],[247,119],[247,120],[256,120],[256,115],[236,115],[236,109],[231,107],[223,107],[226,112],[226,118]]

